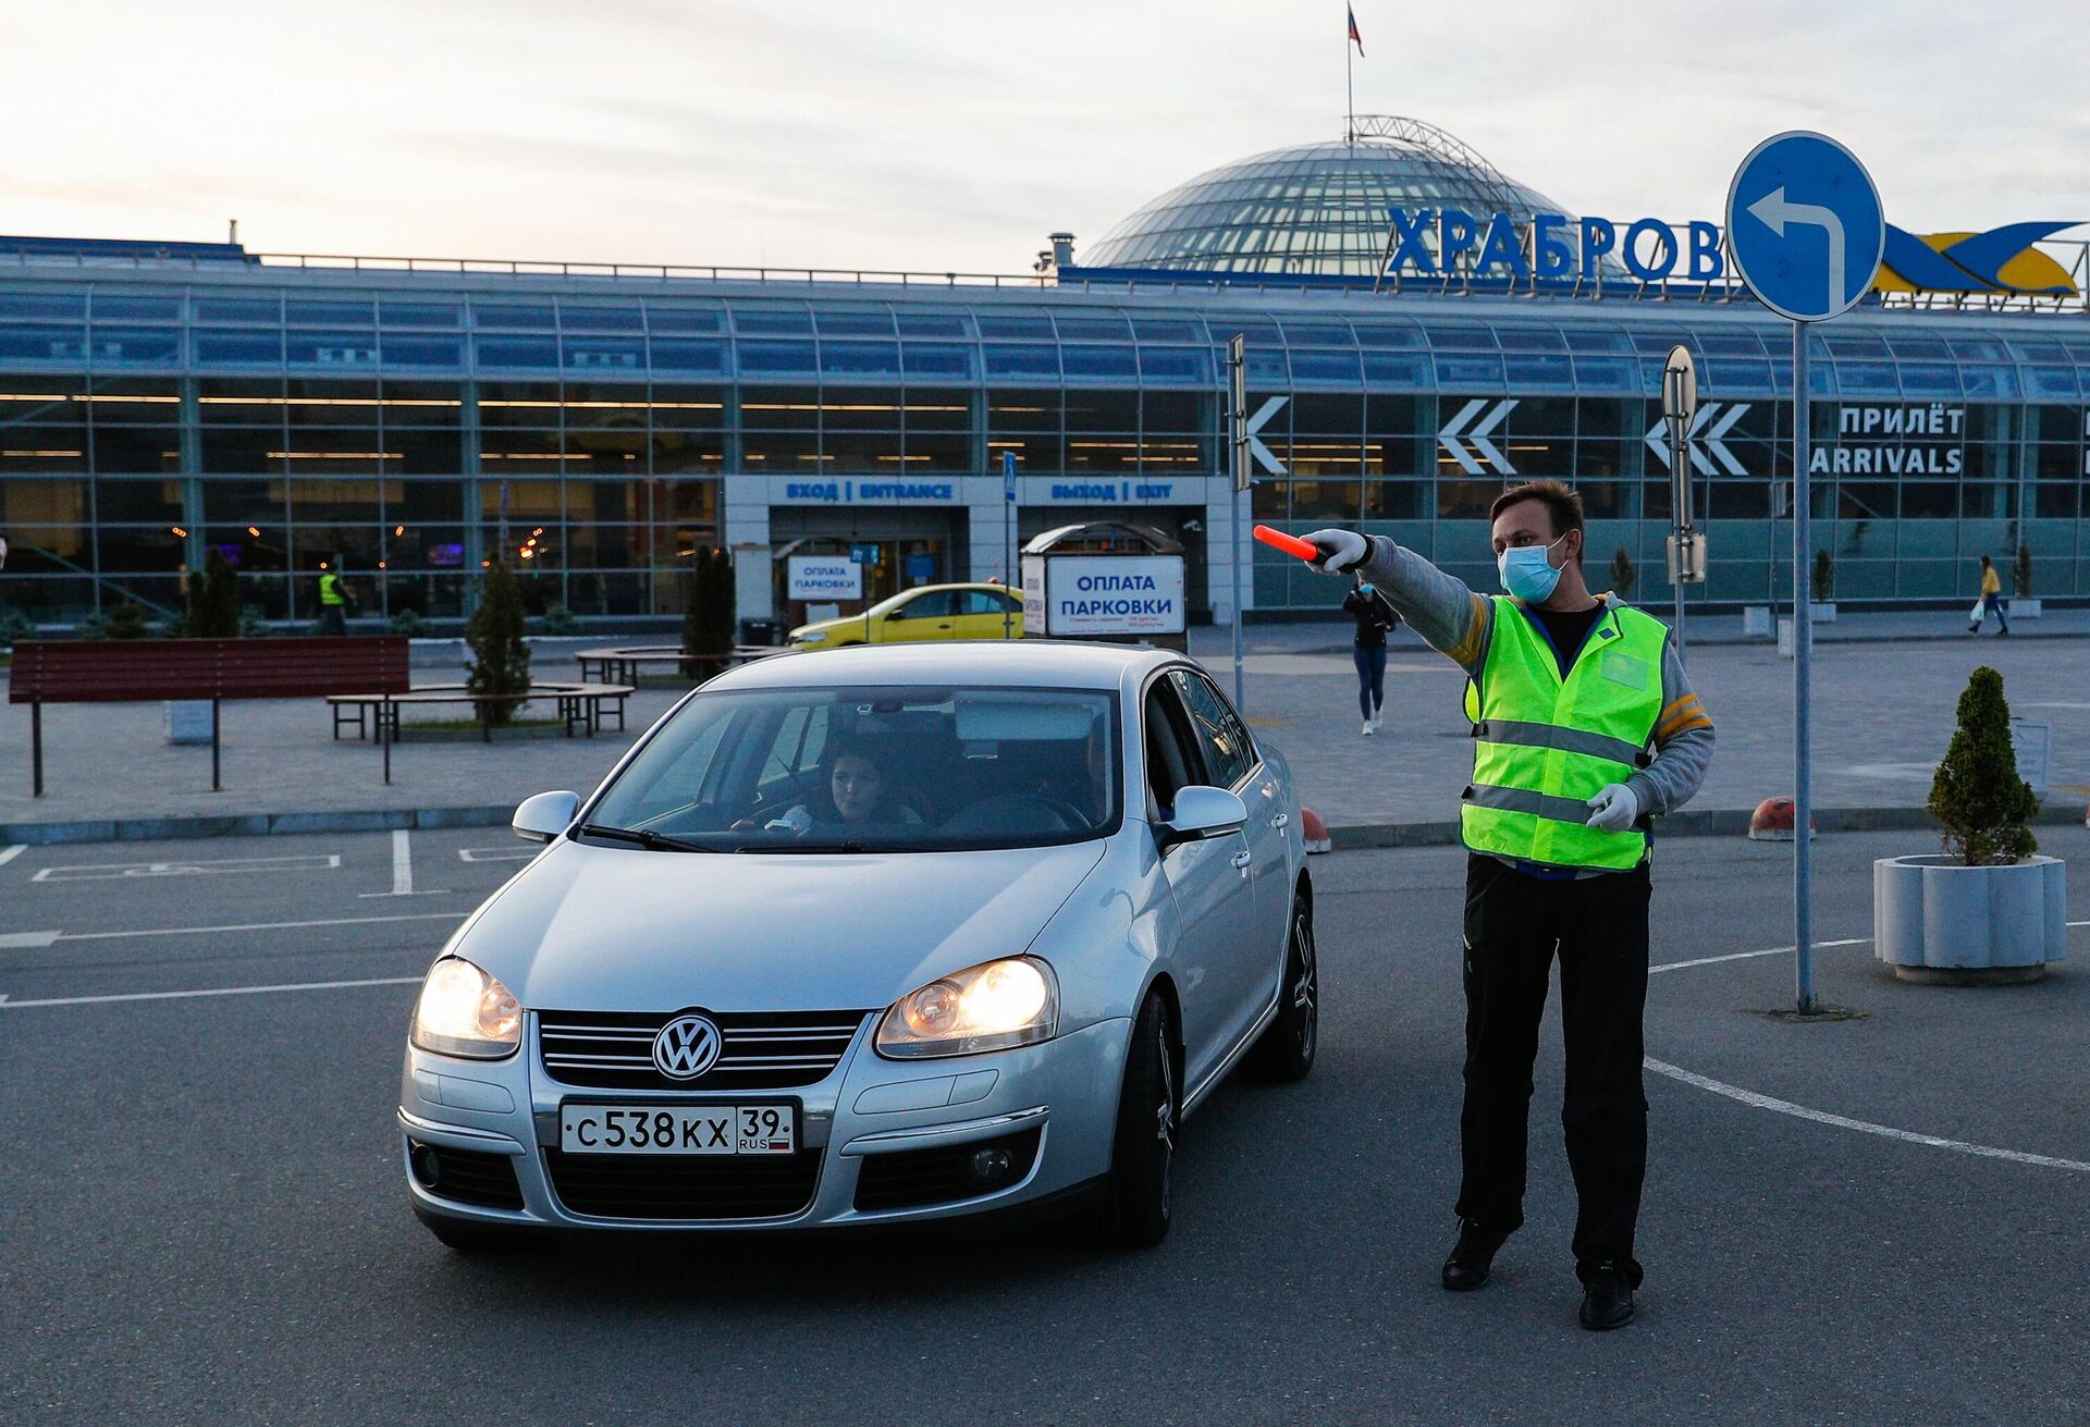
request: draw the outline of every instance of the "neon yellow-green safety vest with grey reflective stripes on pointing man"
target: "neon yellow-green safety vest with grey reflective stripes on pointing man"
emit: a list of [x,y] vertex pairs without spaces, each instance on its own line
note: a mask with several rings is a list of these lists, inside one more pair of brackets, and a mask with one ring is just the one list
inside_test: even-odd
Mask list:
[[1476,742],[1459,829],[1469,848],[1549,867],[1628,869],[1647,857],[1639,827],[1584,823],[1599,788],[1649,763],[1668,633],[1649,614],[1611,606],[1561,679],[1536,616],[1494,598],[1488,658],[1465,700]]

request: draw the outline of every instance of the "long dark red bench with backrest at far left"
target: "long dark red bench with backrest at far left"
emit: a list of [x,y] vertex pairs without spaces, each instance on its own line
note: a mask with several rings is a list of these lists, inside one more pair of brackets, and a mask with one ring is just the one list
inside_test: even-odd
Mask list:
[[211,792],[217,779],[217,704],[228,698],[405,694],[405,635],[324,639],[82,639],[15,646],[10,704],[29,704],[36,796],[44,796],[44,704],[211,700]]

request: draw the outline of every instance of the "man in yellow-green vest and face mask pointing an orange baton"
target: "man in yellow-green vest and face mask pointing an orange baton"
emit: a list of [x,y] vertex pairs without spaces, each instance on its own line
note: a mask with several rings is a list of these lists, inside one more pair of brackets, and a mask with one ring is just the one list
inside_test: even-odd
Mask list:
[[1712,719],[1666,625],[1582,581],[1582,497],[1559,481],[1488,512],[1507,593],[1486,598],[1386,537],[1315,531],[1317,570],[1365,579],[1467,673],[1473,781],[1465,873],[1465,1107],[1459,1241],[1444,1287],[1478,1289],[1524,1224],[1532,1061],[1555,946],[1580,1212],[1582,1327],[1632,1320],[1632,1231],[1647,1176],[1647,819],[1712,763]]

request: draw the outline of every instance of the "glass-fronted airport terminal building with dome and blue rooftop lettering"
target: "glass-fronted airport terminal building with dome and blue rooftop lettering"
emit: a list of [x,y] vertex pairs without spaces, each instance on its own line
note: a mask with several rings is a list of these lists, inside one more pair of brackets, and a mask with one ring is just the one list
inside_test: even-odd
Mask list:
[[[336,558],[359,614],[456,618],[504,558],[533,612],[640,625],[679,616],[690,552],[723,545],[740,614],[794,623],[792,556],[855,558],[869,602],[1137,518],[1187,547],[1193,618],[1229,621],[1235,334],[1250,410],[1285,397],[1254,518],[1381,531],[1492,587],[1488,501],[1561,476],[1590,560],[1624,552],[1647,604],[1668,600],[1657,395],[1682,343],[1695,602],[1770,602],[1791,587],[1789,324],[1708,276],[1703,226],[1618,224],[1605,251],[1563,213],[1386,119],[1204,173],[1089,249],[1055,236],[1012,278],[0,240],[0,606],[176,610],[215,547],[272,621],[309,621]],[[1549,276],[1563,234],[1582,251]],[[2090,600],[2084,261],[1925,242],[1952,276],[1912,255],[1812,336],[1833,598],[1967,602],[1979,554],[2008,579],[2023,547],[2031,593]],[[1248,587],[1252,618],[1340,598],[1260,547]]]

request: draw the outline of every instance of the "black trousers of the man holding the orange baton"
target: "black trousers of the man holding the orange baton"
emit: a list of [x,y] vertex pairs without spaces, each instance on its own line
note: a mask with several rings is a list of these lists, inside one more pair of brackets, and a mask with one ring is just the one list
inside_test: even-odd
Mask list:
[[1524,1162],[1538,1020],[1553,953],[1561,959],[1568,1049],[1568,1166],[1574,1170],[1576,1270],[1626,1266],[1647,1178],[1641,1015],[1647,1007],[1647,863],[1545,882],[1492,857],[1465,869],[1465,1109],[1459,1218],[1494,1233],[1524,1224]]

